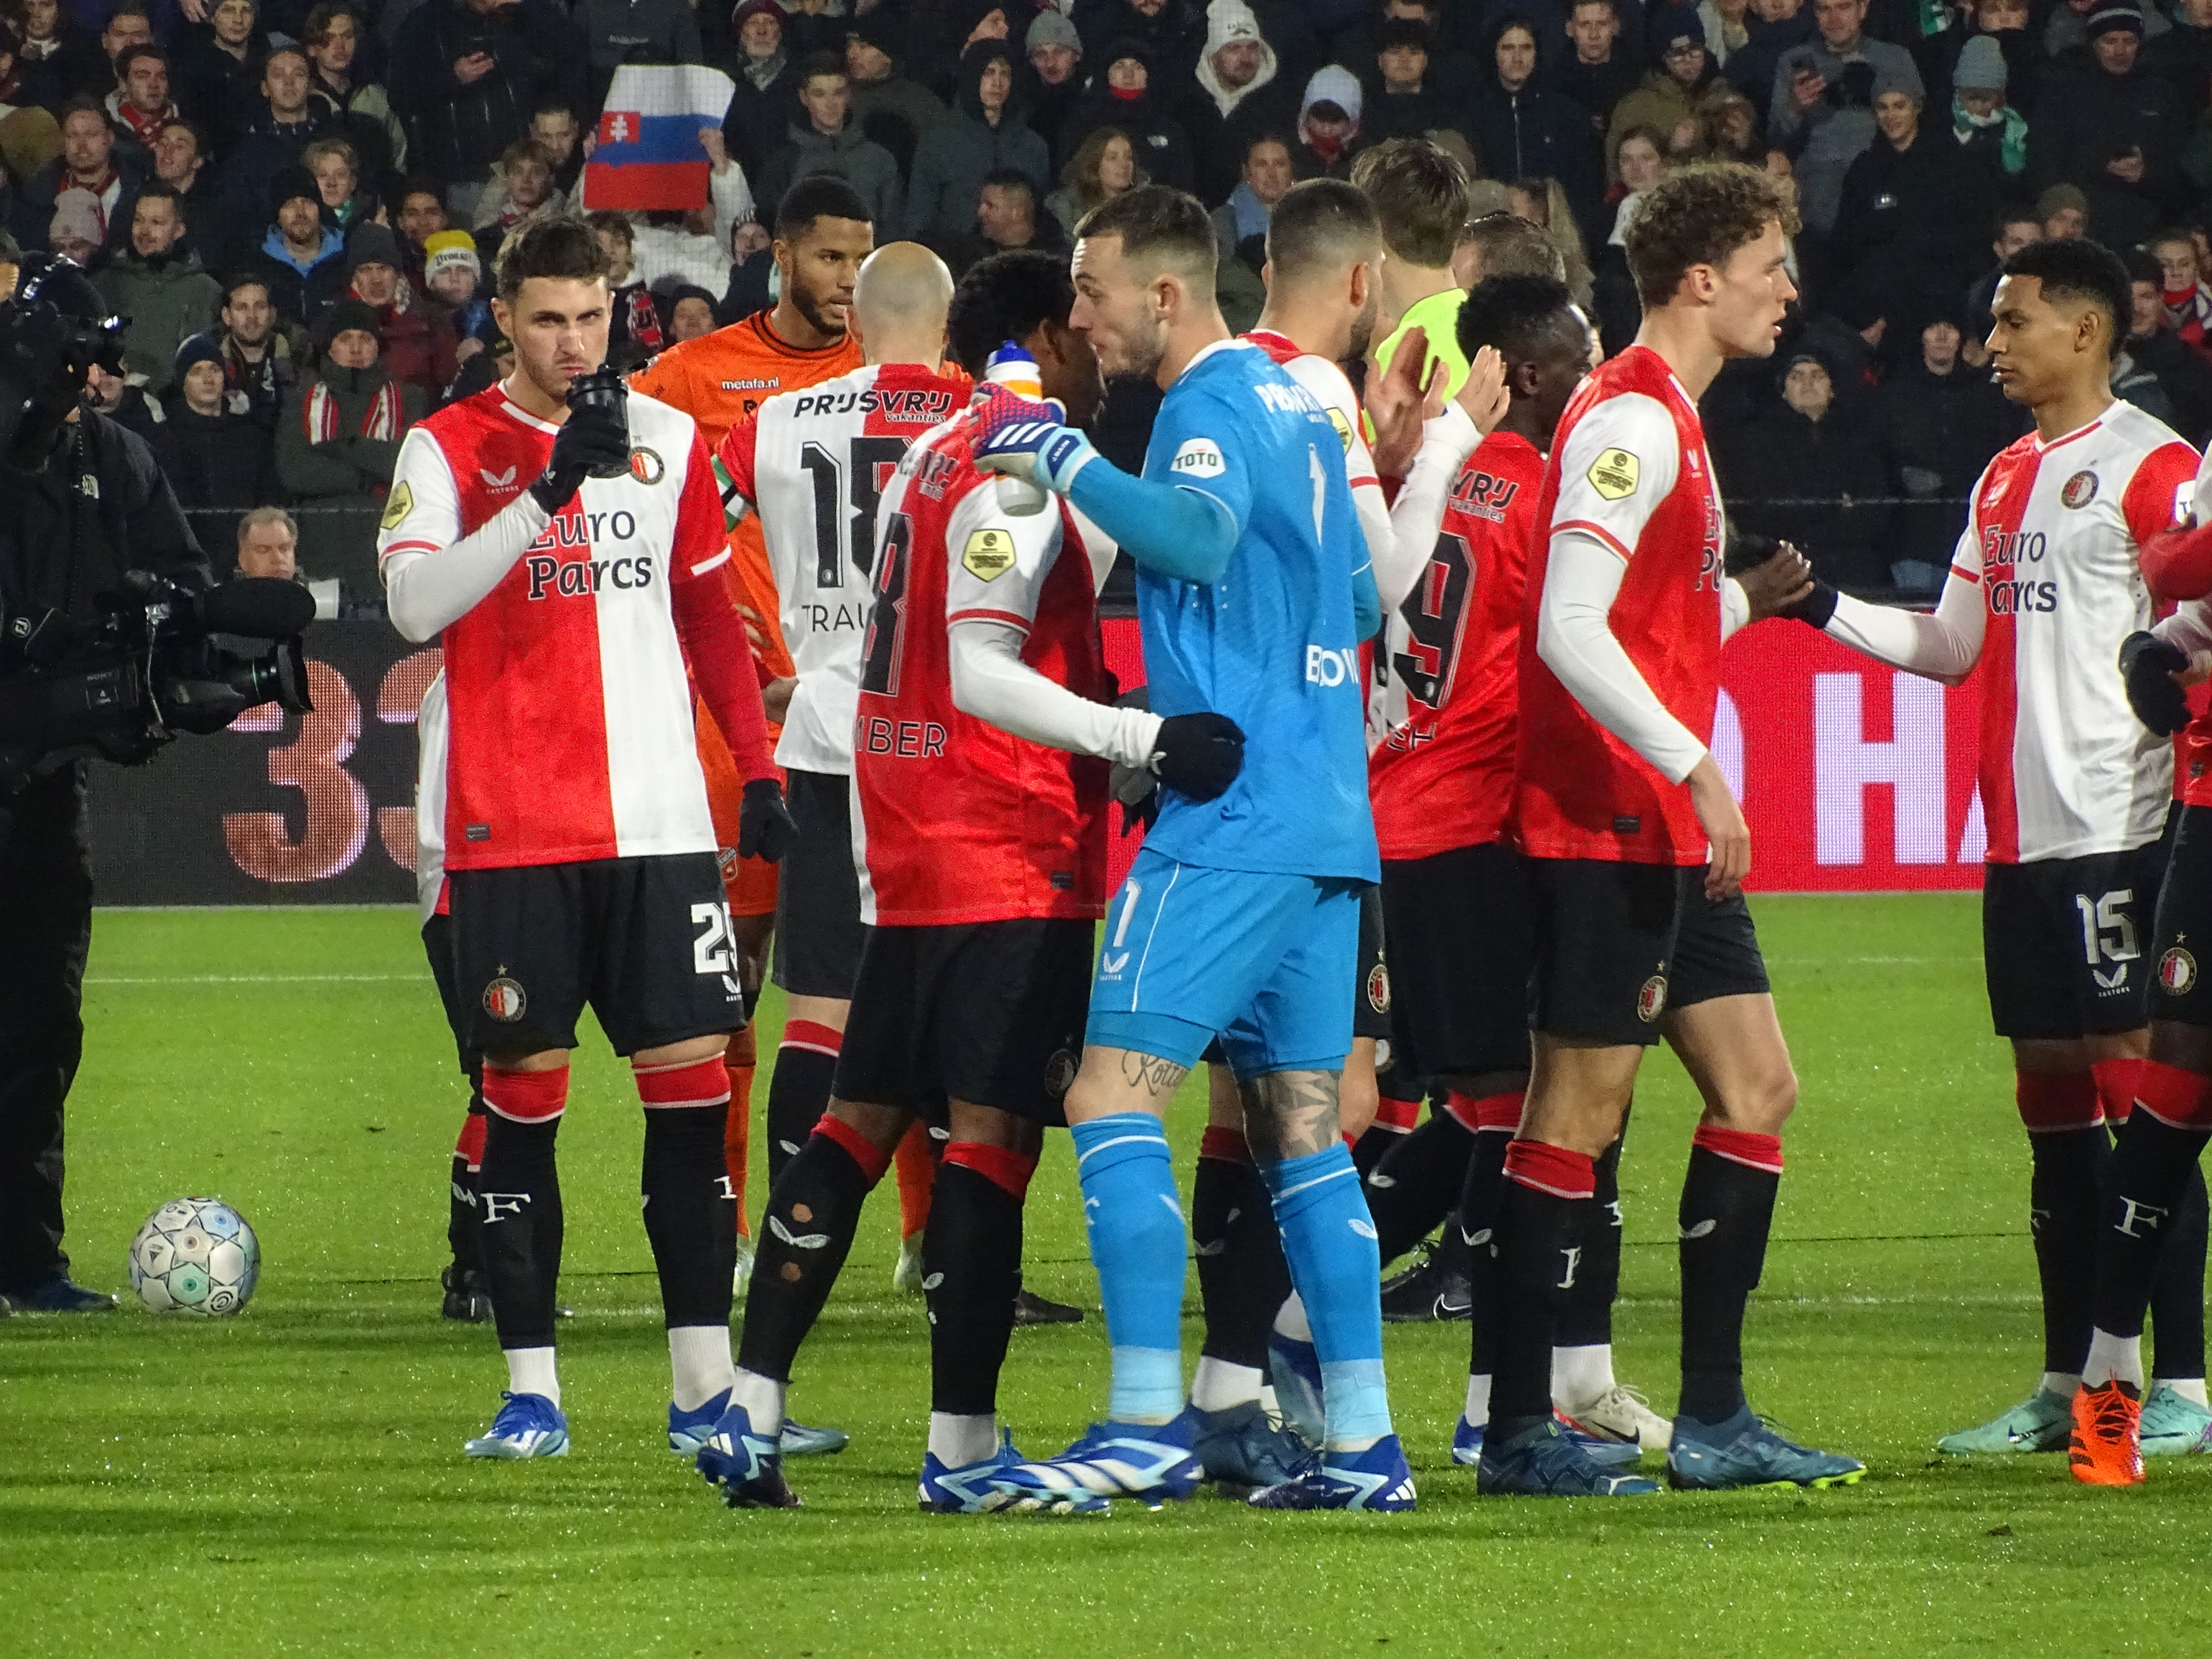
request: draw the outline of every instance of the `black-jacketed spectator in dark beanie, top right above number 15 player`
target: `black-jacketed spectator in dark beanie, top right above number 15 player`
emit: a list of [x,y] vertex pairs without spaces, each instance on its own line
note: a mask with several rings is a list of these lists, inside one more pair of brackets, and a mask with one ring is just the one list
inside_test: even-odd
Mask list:
[[2185,179],[2188,117],[2174,88],[2139,62],[2143,13],[2108,0],[2088,18],[2088,55],[2044,86],[2028,122],[2028,179],[2077,184],[2095,234],[2112,248],[2148,237]]

